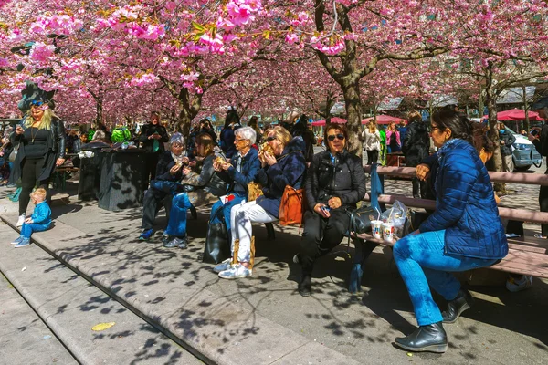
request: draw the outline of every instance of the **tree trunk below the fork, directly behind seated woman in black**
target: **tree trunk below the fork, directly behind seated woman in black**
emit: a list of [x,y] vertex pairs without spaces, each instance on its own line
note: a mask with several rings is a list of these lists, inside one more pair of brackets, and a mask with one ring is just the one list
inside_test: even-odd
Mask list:
[[360,99],[359,79],[343,83],[342,95],[346,106],[346,129],[348,130],[347,150],[362,157],[362,101]]

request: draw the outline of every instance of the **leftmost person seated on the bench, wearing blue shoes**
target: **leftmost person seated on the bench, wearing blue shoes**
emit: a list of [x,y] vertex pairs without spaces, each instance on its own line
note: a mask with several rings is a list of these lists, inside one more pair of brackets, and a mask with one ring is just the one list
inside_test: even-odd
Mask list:
[[[96,132],[96,134],[99,131]],[[156,178],[151,187],[144,193],[142,200],[142,234],[140,240],[148,240],[154,233],[154,218],[163,203],[166,214],[169,214],[174,193],[183,177],[183,166],[189,162],[184,148],[181,133],[174,133],[168,143],[168,151],[163,152],[156,165]]]

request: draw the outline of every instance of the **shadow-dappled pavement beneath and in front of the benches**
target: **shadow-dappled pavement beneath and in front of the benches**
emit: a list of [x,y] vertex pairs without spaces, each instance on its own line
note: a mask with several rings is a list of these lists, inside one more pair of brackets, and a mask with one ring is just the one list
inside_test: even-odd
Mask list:
[[[516,189],[502,201],[535,209],[538,188],[536,193],[534,190]],[[405,181],[388,181],[385,191],[408,194],[411,186]],[[290,358],[258,359],[248,346],[246,353],[238,351],[250,339],[258,340],[257,353],[274,343],[283,344],[277,336],[286,332],[269,330],[277,325],[317,343],[318,349],[332,349],[360,363],[546,363],[546,280],[535,279],[530,290],[518,294],[511,294],[501,285],[471,287],[477,304],[456,324],[447,326],[448,352],[408,356],[392,345],[395,337],[412,331],[416,322],[390,250],[375,250],[365,266],[364,292],[354,296],[346,290],[350,259],[346,248],[340,246],[337,253],[319,261],[314,270],[313,295],[303,298],[296,292],[298,267],[290,264],[299,245],[298,229],[277,227],[276,241],[269,242],[264,228],[254,227],[254,276],[225,281],[198,259],[205,241],[206,213],[206,209],[201,210],[198,221],[188,224],[192,241],[187,250],[168,250],[158,243],[135,240],[140,231],[140,209],[112,213],[99,209],[96,203],[79,203],[71,198],[68,205],[54,209],[54,214],[59,223],[73,227],[73,235],[63,232],[51,245],[79,266],[91,267],[99,281],[103,276],[117,278],[115,283],[121,293],[129,293],[132,300],[141,301],[159,317],[167,314],[167,322],[178,326],[182,336],[190,336],[195,343],[224,343],[216,348],[227,354],[221,355],[219,362],[320,362],[306,357],[296,362]],[[157,224],[159,228],[165,224],[163,216]],[[540,227],[528,228],[538,231]],[[499,277],[501,283],[503,280]],[[444,305],[442,299],[437,300]],[[234,317],[238,318],[237,328],[232,326]]]

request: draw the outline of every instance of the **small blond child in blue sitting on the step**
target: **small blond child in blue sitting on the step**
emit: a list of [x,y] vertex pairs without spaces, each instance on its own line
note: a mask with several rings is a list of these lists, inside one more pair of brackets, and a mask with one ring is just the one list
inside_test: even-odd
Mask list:
[[35,210],[30,218],[26,218],[25,223],[21,227],[19,238],[11,243],[12,245],[16,245],[16,248],[30,245],[30,235],[33,232],[42,232],[49,228],[51,224],[51,209],[47,205],[46,194],[46,189],[42,188],[30,194],[30,199],[35,204]]

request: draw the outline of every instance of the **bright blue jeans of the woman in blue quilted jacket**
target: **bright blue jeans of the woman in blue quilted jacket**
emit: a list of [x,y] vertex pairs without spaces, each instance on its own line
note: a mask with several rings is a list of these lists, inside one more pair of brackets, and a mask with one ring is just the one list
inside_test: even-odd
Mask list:
[[490,266],[495,259],[444,254],[445,230],[406,235],[394,245],[394,259],[415,308],[419,326],[442,320],[430,287],[447,300],[458,295],[460,283],[451,271]]

